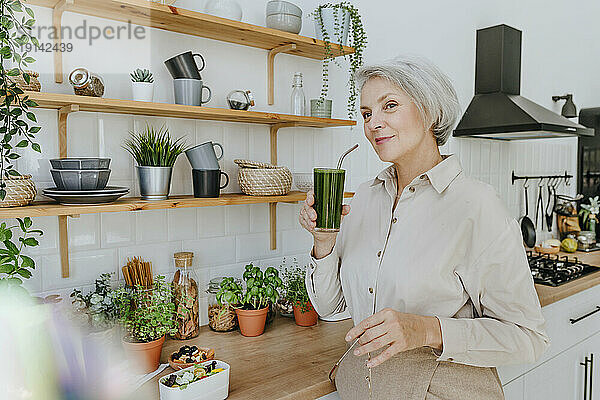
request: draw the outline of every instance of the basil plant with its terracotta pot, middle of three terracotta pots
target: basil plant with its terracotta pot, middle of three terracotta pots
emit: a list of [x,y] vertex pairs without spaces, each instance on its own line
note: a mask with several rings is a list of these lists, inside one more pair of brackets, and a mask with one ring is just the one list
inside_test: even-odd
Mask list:
[[252,263],[246,265],[243,279],[245,289],[234,278],[224,278],[217,301],[233,305],[242,335],[260,336],[265,331],[270,305],[277,301],[283,282],[275,268],[268,267],[263,272]]

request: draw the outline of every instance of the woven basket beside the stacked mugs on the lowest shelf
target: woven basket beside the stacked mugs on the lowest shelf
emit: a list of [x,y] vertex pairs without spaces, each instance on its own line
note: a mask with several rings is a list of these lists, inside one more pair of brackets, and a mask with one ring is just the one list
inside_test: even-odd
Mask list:
[[242,192],[250,196],[280,196],[292,188],[292,173],[286,167],[248,161],[233,160],[240,169],[238,180]]

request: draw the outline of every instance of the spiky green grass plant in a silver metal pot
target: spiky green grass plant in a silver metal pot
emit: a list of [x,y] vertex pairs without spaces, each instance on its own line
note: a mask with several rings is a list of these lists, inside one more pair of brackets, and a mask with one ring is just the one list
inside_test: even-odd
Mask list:
[[136,170],[142,200],[166,200],[177,157],[185,151],[184,138],[171,139],[165,125],[159,130],[150,125],[142,132],[131,132],[123,146],[137,162]]

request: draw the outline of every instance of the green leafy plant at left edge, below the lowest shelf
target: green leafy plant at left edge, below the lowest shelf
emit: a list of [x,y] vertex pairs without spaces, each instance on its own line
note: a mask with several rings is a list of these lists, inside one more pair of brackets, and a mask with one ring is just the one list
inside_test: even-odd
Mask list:
[[[19,225],[7,226],[6,222],[0,224],[0,287],[21,288],[23,279],[31,278],[31,271],[35,269],[35,261],[23,254],[28,247],[39,245],[34,236],[41,236],[43,232],[39,229],[31,229],[33,223],[31,218],[17,218]],[[13,240],[13,230],[19,232],[17,243]]]

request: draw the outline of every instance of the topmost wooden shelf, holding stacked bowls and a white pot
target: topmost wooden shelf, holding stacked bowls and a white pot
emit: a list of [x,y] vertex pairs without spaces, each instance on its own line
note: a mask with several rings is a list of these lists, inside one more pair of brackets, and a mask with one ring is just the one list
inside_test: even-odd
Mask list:
[[[61,3],[66,3],[63,11],[122,22],[131,21],[150,28],[265,50],[295,44],[295,49],[287,51],[289,54],[313,59],[323,59],[325,56],[325,43],[321,40],[146,0],[27,0],[26,2],[53,9]],[[334,54],[339,55],[339,45],[333,45],[331,49]],[[354,49],[344,46],[344,53],[354,53]]]

